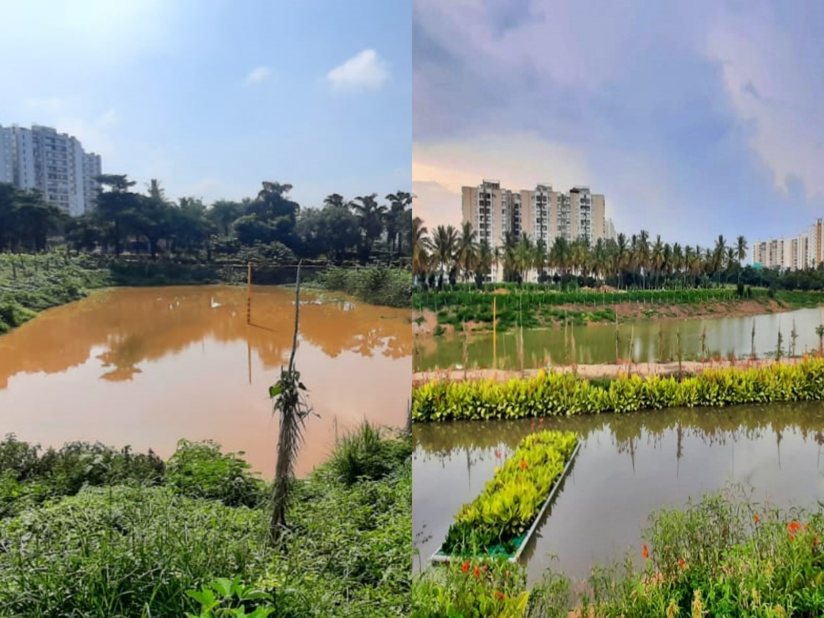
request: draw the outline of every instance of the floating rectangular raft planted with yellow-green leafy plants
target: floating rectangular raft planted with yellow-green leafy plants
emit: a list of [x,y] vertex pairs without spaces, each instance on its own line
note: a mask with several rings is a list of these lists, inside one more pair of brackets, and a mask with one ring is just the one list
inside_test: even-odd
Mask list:
[[580,446],[572,432],[541,431],[523,438],[513,456],[495,468],[484,491],[461,507],[431,560],[520,559]]

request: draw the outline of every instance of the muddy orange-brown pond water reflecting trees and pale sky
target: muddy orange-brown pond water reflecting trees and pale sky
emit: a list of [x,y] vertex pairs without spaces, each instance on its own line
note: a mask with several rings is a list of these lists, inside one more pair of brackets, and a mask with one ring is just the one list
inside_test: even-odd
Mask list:
[[[410,311],[302,292],[296,363],[321,418],[307,419],[305,475],[363,419],[402,427],[410,397]],[[274,472],[268,389],[288,363],[294,291],[227,286],[117,288],[45,311],[0,337],[0,434],[161,456],[214,439]]]

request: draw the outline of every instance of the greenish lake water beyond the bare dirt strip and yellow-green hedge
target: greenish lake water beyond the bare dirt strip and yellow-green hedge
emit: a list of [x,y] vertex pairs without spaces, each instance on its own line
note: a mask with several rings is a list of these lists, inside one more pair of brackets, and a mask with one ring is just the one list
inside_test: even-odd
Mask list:
[[[617,354],[622,359],[632,358],[636,363],[648,363],[661,358],[677,359],[677,335],[681,335],[681,353],[685,360],[699,358],[701,335],[706,329],[705,347],[711,354],[737,358],[748,357],[753,348],[752,327],[756,327],[756,355],[763,357],[775,353],[779,330],[784,339],[782,349],[788,352],[790,333],[795,324],[798,338],[796,353],[818,349],[816,327],[824,323],[824,310],[800,309],[749,317],[689,318],[684,320],[639,320],[618,327]],[[659,329],[662,337],[659,335]],[[497,335],[497,350],[493,349],[490,334],[469,335],[467,341],[467,366],[469,368],[493,368],[497,354],[500,369],[520,368],[516,333]],[[608,324],[573,326],[567,334],[568,341],[575,340],[575,361],[584,363],[616,362],[616,327]],[[663,339],[663,345],[661,345]],[[414,370],[456,368],[463,364],[465,337],[461,333],[442,337],[416,337],[414,339]],[[569,364],[572,360],[571,344],[564,343],[564,329],[524,330],[523,361],[525,368],[544,367],[547,363]],[[566,351],[566,352],[565,352]]]

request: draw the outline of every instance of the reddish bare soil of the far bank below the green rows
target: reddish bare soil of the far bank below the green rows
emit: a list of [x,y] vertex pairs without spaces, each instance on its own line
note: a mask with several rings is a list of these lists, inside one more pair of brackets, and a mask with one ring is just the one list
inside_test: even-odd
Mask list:
[[[617,302],[606,306],[582,307],[581,305],[559,305],[553,309],[559,311],[569,311],[570,313],[580,313],[582,311],[595,311],[602,308],[610,308],[616,312],[618,320],[621,322],[650,320],[685,320],[689,318],[702,317],[748,317],[760,316],[765,313],[780,313],[792,311],[792,307],[786,303],[780,303],[774,298],[760,298],[758,300],[733,301],[733,302],[699,302],[696,304],[672,304],[672,305],[644,305],[638,302]],[[562,323],[555,320],[539,318],[542,327],[561,327]],[[605,321],[591,321],[590,324],[603,324]],[[412,333],[415,336],[424,337],[434,335],[438,327],[438,316],[434,311],[424,309],[424,311],[412,311]],[[451,324],[441,325],[442,334],[449,335],[454,332],[455,327]],[[475,333],[492,332],[492,325],[489,322],[467,322],[467,330]]]

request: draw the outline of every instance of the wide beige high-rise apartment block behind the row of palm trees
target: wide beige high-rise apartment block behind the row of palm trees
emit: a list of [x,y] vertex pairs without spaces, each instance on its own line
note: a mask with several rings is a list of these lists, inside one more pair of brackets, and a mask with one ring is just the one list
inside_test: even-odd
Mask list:
[[562,193],[549,183],[535,189],[503,189],[499,180],[483,180],[477,187],[461,189],[461,213],[489,246],[503,245],[505,232],[526,235],[551,246],[556,236],[568,241],[586,238],[591,244],[606,238],[605,200],[588,187]]

